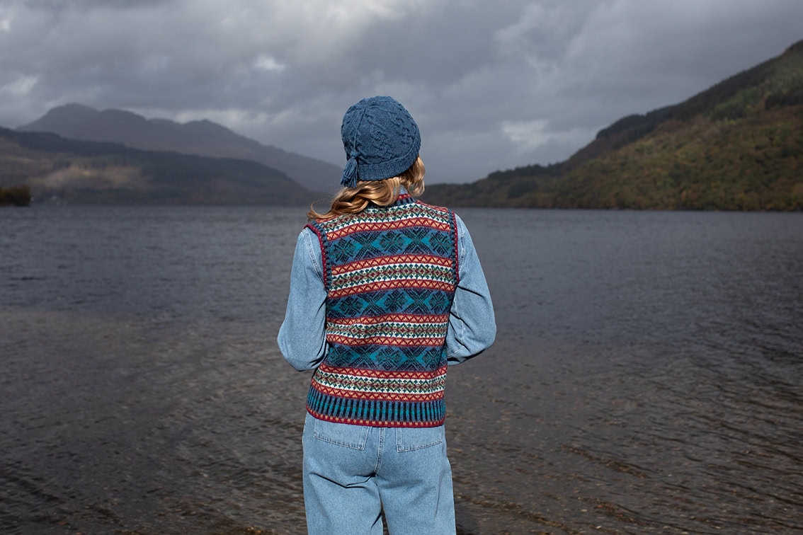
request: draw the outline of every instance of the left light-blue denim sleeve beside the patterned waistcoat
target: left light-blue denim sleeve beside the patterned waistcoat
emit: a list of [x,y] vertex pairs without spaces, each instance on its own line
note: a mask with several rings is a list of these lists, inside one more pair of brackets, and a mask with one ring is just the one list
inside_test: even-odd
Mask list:
[[326,290],[318,237],[304,229],[296,240],[287,311],[279,328],[279,351],[298,371],[313,370],[326,355]]

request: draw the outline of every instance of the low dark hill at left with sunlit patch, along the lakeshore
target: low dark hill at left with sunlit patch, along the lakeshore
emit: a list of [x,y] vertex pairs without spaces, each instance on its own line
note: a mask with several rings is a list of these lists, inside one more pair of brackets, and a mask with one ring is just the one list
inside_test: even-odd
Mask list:
[[144,151],[0,128],[0,189],[36,202],[309,205],[319,197],[253,160]]

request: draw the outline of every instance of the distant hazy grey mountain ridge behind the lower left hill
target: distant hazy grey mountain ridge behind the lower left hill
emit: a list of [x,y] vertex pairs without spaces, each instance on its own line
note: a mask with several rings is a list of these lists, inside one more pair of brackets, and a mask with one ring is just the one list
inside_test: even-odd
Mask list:
[[310,191],[332,193],[341,168],[321,160],[263,145],[208,120],[177,123],[145,119],[131,111],[67,104],[47,111],[21,132],[52,132],[70,139],[110,141],[149,151],[254,160],[278,169]]

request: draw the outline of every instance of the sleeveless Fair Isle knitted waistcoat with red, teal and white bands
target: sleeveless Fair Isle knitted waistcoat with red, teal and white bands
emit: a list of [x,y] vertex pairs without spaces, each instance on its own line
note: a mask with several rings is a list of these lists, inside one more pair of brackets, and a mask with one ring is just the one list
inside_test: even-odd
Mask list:
[[328,351],[307,410],[344,424],[443,424],[454,213],[403,193],[393,205],[308,227],[320,240]]

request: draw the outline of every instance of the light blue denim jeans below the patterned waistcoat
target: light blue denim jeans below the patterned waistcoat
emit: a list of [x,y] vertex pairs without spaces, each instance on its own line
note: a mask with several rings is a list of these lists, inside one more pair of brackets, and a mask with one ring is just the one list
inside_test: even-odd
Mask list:
[[455,533],[446,435],[437,428],[304,422],[308,533]]

